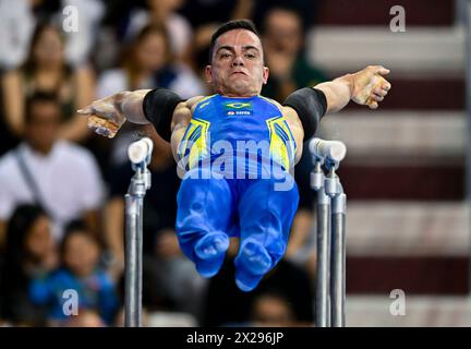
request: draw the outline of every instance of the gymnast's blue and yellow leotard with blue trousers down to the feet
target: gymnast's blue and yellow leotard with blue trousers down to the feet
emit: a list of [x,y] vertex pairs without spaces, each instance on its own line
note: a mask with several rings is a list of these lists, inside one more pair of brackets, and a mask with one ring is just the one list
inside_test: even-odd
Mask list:
[[254,289],[278,263],[299,202],[290,173],[295,151],[285,117],[268,98],[213,95],[196,105],[179,147],[185,174],[176,228],[200,274],[217,274],[233,236],[240,237],[240,289]]

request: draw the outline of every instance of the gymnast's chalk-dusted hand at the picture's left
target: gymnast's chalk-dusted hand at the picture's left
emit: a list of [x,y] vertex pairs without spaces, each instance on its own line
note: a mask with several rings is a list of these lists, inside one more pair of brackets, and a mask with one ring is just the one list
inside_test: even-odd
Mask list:
[[112,139],[126,121],[121,108],[120,93],[93,101],[83,109],[77,110],[82,116],[88,117],[88,128],[96,133]]

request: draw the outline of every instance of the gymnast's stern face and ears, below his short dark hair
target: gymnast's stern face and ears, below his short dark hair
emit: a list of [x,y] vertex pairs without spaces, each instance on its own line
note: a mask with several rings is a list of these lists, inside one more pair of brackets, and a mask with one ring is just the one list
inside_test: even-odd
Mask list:
[[258,95],[268,79],[259,38],[246,29],[229,31],[216,40],[207,82],[228,97]]

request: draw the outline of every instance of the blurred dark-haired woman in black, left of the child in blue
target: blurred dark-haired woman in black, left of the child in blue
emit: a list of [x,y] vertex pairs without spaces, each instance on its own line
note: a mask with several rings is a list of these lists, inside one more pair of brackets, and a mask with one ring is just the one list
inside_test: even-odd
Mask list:
[[7,228],[4,263],[0,276],[0,318],[13,325],[44,326],[47,309],[29,300],[28,286],[58,265],[47,214],[34,205],[14,210]]

